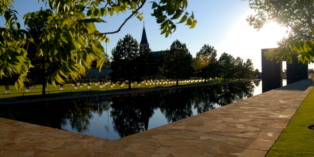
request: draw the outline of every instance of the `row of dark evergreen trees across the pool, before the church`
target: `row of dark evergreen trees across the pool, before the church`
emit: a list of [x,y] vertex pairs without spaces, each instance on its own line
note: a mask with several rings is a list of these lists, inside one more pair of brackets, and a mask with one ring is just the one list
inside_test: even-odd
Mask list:
[[[204,45],[193,58],[186,44],[174,41],[169,50],[160,51],[156,57],[150,49],[140,52],[138,42],[126,35],[120,39],[117,46],[111,51],[111,80],[113,82],[140,82],[143,76],[159,75],[161,78],[179,79],[191,77],[208,78],[250,78],[254,74],[253,63],[242,58],[234,58],[223,53],[217,59],[217,50]],[[206,83],[206,82],[205,82]],[[131,88],[131,84],[129,84]]]

